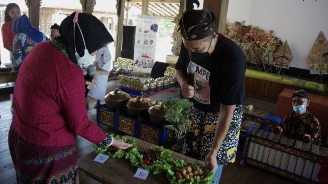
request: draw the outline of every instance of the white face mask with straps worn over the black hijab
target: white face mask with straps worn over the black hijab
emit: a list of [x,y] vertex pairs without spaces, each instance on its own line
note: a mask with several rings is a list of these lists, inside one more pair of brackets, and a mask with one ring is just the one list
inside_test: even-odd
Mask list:
[[86,46],[85,46],[85,42],[84,42],[84,38],[83,38],[83,34],[82,34],[82,31],[80,29],[80,26],[78,25],[78,23],[76,22],[77,24],[77,27],[78,29],[80,30],[81,32],[81,35],[82,35],[82,39],[83,39],[83,44],[84,44],[84,55],[82,57],[80,57],[76,51],[76,46],[75,46],[75,23],[74,23],[74,28],[73,28],[73,38],[74,38],[74,48],[75,48],[75,57],[77,59],[77,65],[79,65],[81,68],[83,66],[89,66],[90,64],[93,63],[93,61],[95,60],[95,55],[92,56],[88,49],[86,49]]

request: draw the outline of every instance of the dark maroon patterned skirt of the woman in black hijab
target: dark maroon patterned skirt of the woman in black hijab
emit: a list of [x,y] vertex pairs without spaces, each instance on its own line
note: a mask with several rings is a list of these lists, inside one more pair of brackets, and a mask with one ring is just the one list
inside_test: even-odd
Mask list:
[[47,147],[30,144],[9,130],[9,150],[17,183],[79,183],[74,145]]

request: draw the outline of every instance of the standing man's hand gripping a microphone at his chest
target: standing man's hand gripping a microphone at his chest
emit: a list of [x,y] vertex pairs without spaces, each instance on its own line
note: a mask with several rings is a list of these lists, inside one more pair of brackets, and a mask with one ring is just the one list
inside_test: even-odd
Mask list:
[[197,88],[194,85],[195,71],[196,71],[196,64],[190,62],[189,65],[188,65],[188,68],[187,68],[188,83],[186,82],[186,83],[182,84],[182,86],[181,86],[182,96],[187,98],[187,99],[190,99],[190,98],[193,97],[194,92],[195,92],[194,90],[195,90],[195,88]]

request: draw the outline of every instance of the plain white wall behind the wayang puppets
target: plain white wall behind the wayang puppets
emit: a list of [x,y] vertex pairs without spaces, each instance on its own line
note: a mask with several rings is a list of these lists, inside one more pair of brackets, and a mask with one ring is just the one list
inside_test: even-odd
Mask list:
[[307,57],[319,32],[328,38],[328,1],[247,0],[247,3],[251,4],[250,16],[248,8],[241,8],[248,7],[244,1],[229,1],[229,22],[246,20],[246,25],[273,30],[275,36],[288,41],[294,57],[290,66],[309,69]]

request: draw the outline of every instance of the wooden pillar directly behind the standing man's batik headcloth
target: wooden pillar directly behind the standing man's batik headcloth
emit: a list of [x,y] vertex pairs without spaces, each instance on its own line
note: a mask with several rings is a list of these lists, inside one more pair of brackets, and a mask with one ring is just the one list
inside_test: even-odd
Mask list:
[[226,31],[229,0],[204,0],[203,9],[213,12],[218,23],[217,32]]

